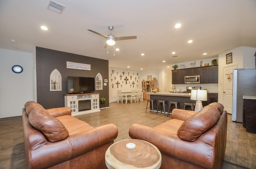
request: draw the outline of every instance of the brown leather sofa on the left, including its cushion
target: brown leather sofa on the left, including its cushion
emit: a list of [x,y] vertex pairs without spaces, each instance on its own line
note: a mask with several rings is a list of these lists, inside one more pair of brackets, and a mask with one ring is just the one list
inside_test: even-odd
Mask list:
[[44,109],[27,102],[22,111],[28,169],[104,169],[105,152],[114,143],[114,124],[92,127],[71,116],[69,107]]

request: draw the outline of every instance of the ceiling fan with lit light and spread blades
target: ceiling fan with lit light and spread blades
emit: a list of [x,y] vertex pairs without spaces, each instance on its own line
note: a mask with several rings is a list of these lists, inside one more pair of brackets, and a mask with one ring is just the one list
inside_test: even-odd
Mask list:
[[112,34],[112,30],[114,29],[114,26],[108,26],[108,29],[110,30],[109,35],[103,35],[101,33],[98,33],[96,31],[93,31],[92,29],[88,29],[88,31],[91,31],[92,33],[95,33],[97,35],[100,35],[102,37],[106,38],[106,44],[104,47],[107,47],[107,45],[114,45],[116,41],[121,41],[121,40],[128,40],[128,39],[137,39],[137,36],[122,36],[122,37],[115,37],[115,35]]

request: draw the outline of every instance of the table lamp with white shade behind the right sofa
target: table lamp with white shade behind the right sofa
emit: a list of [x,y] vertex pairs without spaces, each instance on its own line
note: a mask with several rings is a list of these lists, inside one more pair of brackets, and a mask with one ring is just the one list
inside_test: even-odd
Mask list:
[[196,100],[195,112],[203,108],[202,101],[207,100],[207,90],[191,90],[191,100]]

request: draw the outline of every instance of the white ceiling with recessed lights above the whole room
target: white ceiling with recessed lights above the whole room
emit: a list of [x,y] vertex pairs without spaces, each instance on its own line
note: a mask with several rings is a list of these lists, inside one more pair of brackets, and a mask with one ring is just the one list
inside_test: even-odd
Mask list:
[[[256,0],[54,1],[66,6],[61,14],[47,9],[50,0],[0,0],[0,48],[32,53],[38,46],[147,71],[256,47]],[[176,29],[178,22],[182,26]],[[108,35],[110,25],[115,36],[137,36],[116,41],[115,56],[113,47],[103,48],[104,37],[87,31]]]

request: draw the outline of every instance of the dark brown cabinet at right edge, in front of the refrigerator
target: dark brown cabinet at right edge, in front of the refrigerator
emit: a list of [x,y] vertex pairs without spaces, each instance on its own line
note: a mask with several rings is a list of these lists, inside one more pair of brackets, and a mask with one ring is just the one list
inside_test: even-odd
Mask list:
[[256,134],[256,100],[244,99],[243,119],[247,132]]

